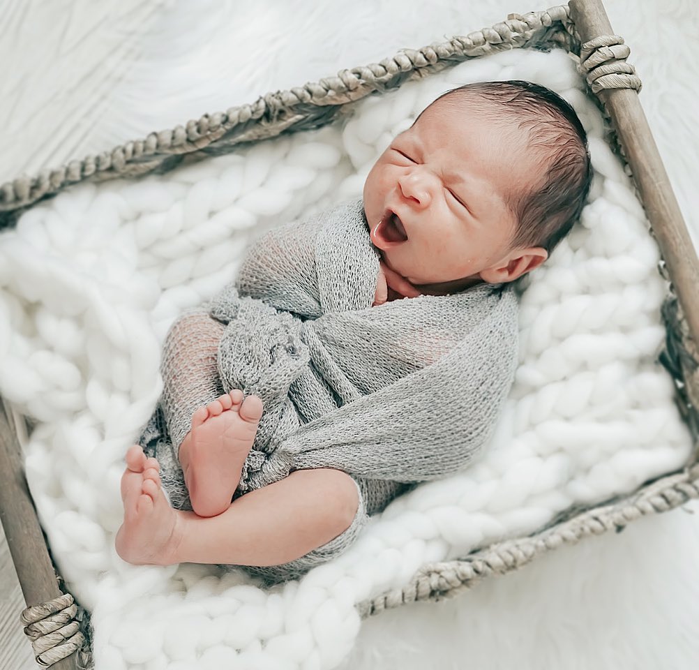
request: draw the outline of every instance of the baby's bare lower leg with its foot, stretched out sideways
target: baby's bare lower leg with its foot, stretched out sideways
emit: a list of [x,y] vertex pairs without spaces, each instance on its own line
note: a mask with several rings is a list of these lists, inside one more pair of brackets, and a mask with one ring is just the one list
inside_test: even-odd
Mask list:
[[339,470],[297,470],[241,496],[222,514],[175,511],[161,490],[157,462],[140,447],[127,454],[124,523],[117,553],[135,564],[270,566],[308,554],[342,534],[357,512],[354,480]]

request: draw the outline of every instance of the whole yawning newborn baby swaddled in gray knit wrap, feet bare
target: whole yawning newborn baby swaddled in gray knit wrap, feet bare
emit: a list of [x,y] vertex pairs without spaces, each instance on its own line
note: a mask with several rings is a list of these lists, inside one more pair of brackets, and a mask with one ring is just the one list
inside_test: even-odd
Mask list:
[[412,483],[468,465],[514,376],[512,282],[590,182],[560,97],[466,85],[394,139],[363,200],[264,236],[168,334],[141,440],[157,458],[127,453],[120,556],[298,576]]

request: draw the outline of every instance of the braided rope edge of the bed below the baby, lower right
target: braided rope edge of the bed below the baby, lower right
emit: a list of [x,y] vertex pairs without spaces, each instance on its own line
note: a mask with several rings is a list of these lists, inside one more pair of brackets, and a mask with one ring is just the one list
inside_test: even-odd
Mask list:
[[617,532],[641,516],[667,512],[699,498],[699,466],[650,483],[616,504],[592,508],[531,537],[507,540],[464,559],[424,566],[408,585],[360,603],[363,618],[419,600],[454,597],[491,575],[517,570],[536,556],[584,537]]

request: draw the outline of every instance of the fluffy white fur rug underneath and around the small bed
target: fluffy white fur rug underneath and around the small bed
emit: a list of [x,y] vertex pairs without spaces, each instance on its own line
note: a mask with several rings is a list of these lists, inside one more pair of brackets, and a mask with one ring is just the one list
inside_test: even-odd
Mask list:
[[[266,90],[380,59],[401,46],[489,25],[510,11],[539,8],[503,1],[324,8],[279,2],[247,9],[170,3],[148,13],[152,6],[144,5],[138,21],[138,12],[113,6],[122,22],[92,25],[97,36],[103,35],[101,41],[80,29],[85,17],[79,11],[82,3],[75,3],[78,11],[62,16],[62,33],[38,31],[34,50],[27,49],[31,38],[10,45],[18,65],[2,84],[5,99],[12,101],[5,107],[11,122],[4,127],[13,132],[6,130],[1,138],[6,150],[0,176],[53,165],[202,111],[250,101]],[[26,30],[37,6],[41,3],[29,3],[24,15],[6,15]],[[688,1],[662,6],[614,1],[608,9],[612,25],[633,48],[630,60],[646,84],[642,101],[696,230],[692,162],[698,143],[691,127],[697,105],[696,9]],[[138,27],[140,34],[125,27]],[[52,41],[50,35],[62,35],[63,41]],[[66,35],[73,36],[72,48],[59,48],[65,47]],[[110,63],[107,71],[71,76],[71,67],[89,55],[85,49],[97,52],[104,41],[111,41],[117,56],[100,59]],[[4,44],[1,48],[7,49]],[[44,57],[39,62],[52,66],[37,69],[36,62],[21,57],[37,53]],[[22,92],[17,85],[23,67],[31,88]],[[93,80],[101,85],[98,92],[85,86]],[[34,97],[41,95],[35,91],[48,95],[52,87],[72,95],[48,106]],[[95,99],[101,108],[94,107]],[[40,150],[38,138],[50,138],[52,150]],[[28,150],[31,143],[36,150]],[[363,626],[349,662],[367,668],[438,662],[487,668],[694,667],[699,659],[693,578],[698,546],[697,522],[689,515],[642,520],[621,536],[559,550],[456,601],[384,613]]]

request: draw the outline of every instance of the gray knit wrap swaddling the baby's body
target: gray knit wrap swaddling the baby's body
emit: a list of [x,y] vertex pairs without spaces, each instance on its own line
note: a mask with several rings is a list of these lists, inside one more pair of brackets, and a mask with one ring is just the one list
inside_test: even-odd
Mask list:
[[372,306],[378,269],[361,201],[259,238],[207,306],[213,319],[189,315],[166,341],[161,406],[175,454],[194,409],[238,388],[261,397],[264,415],[237,494],[334,467],[382,487],[373,513],[402,483],[467,466],[514,376],[514,291]]

